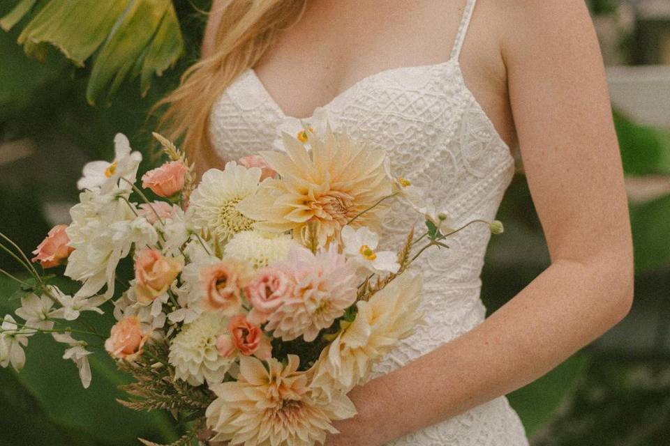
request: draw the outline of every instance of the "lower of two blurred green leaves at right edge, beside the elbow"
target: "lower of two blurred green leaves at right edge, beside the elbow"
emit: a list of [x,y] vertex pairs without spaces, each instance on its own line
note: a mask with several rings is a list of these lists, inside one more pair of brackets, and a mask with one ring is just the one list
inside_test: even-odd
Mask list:
[[670,196],[630,207],[635,271],[670,265]]

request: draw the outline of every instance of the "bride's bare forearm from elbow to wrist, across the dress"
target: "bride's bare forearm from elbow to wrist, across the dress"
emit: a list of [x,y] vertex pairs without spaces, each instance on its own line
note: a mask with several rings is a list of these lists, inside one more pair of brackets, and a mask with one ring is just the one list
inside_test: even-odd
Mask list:
[[512,392],[600,336],[632,302],[632,272],[617,263],[615,253],[556,261],[474,330],[353,390],[380,427],[374,443]]

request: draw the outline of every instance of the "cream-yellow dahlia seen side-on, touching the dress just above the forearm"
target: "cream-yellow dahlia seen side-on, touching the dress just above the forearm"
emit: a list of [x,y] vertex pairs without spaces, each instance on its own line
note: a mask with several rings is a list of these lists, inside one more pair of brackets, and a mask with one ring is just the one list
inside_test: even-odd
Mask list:
[[403,272],[370,300],[359,300],[355,320],[327,346],[311,369],[313,387],[329,397],[367,380],[373,363],[420,323],[422,277]]

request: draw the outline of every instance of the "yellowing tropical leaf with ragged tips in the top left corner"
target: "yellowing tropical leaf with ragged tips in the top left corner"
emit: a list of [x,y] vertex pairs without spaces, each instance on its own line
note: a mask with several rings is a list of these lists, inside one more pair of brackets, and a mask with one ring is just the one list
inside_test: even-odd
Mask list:
[[[31,13],[18,38],[24,51],[43,59],[48,45],[75,66],[91,58],[87,100],[114,94],[128,77],[140,75],[142,95],[154,75],[162,75],[184,52],[177,13],[171,0],[22,0],[0,20],[11,29]],[[97,56],[95,56],[97,52]]]

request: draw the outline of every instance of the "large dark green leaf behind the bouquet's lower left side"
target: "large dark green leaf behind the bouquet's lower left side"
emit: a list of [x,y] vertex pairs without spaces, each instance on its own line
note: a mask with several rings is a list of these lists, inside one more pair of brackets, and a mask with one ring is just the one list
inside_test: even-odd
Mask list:
[[[16,307],[5,298],[16,288],[13,282],[0,279],[0,315],[13,312]],[[102,333],[109,332],[113,323],[110,314],[89,317],[89,322]],[[94,342],[100,346],[99,339],[91,344]],[[26,365],[17,374],[18,382],[43,408],[51,423],[68,431],[80,431],[103,445],[136,445],[137,437],[161,441],[177,438],[166,413],[135,412],[117,403],[117,398],[124,397],[118,386],[128,383],[128,377],[117,370],[102,348],[92,349],[89,362],[93,380],[91,387],[84,389],[75,364],[62,359],[64,346],[46,334],[34,335],[26,349]]]

